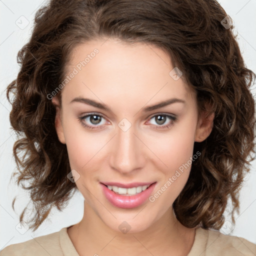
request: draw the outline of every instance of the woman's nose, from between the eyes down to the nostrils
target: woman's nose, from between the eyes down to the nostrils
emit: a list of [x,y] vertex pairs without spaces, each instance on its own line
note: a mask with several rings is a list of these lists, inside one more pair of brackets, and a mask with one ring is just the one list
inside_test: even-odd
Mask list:
[[117,127],[117,134],[113,138],[110,153],[110,166],[123,174],[141,169],[145,164],[143,143],[134,133],[133,126],[123,131]]

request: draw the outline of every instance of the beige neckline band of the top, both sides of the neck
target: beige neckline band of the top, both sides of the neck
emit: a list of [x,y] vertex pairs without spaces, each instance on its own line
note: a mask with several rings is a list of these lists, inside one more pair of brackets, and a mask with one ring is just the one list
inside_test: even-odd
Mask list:
[[[69,227],[69,226],[68,226]],[[70,237],[67,228],[63,227],[59,230],[59,244],[64,256],[79,256]],[[194,242],[186,256],[205,255],[206,243],[208,240],[208,230],[201,227],[195,228]]]

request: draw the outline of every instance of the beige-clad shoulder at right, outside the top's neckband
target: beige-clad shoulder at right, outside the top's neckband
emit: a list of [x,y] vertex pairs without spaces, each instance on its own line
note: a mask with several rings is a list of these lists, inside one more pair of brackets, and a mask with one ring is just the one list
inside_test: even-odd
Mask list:
[[255,256],[256,244],[245,238],[223,234],[215,230],[201,228],[201,234],[206,238],[205,256],[232,255]]

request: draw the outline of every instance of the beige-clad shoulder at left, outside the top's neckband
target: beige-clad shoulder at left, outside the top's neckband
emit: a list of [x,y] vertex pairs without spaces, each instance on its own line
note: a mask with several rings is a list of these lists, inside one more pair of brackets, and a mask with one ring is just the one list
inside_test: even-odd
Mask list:
[[6,246],[0,251],[0,256],[62,256],[59,244],[59,231],[33,237],[30,240]]

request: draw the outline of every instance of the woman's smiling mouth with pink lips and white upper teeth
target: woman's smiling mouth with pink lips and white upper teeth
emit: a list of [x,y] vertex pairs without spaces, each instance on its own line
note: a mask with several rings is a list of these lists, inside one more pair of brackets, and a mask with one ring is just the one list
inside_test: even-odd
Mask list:
[[100,182],[105,198],[116,207],[134,208],[140,206],[148,199],[156,185],[156,181],[130,184],[118,183],[118,186],[116,184],[116,182],[112,182],[111,184]]

